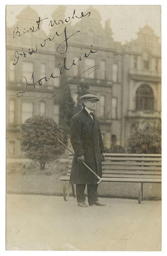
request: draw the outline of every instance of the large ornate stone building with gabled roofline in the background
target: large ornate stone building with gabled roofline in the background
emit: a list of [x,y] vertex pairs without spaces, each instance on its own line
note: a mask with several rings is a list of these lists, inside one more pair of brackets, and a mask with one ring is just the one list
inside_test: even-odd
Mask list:
[[[71,25],[69,17],[65,17],[65,7],[58,7],[52,13],[52,26],[46,35],[41,28],[46,21],[38,22],[40,29],[37,29],[39,15],[28,6],[18,15],[17,24],[6,29],[8,157],[23,157],[20,128],[27,118],[48,115],[59,123],[63,91],[52,99],[47,95],[67,82],[74,100],[78,82],[88,84],[90,93],[99,96],[95,114],[108,148],[111,144],[124,146],[130,133],[138,128],[161,124],[161,45],[153,29],[146,25],[139,30],[136,40],[121,45],[112,39],[109,20],[105,28],[101,26],[101,16],[96,9],[91,6],[84,15]],[[59,19],[63,24],[58,25]],[[36,31],[26,32],[32,26]],[[68,49],[63,42],[65,32],[69,37]],[[54,39],[44,41],[47,38]],[[72,65],[74,59],[76,65]],[[98,68],[84,76],[84,71],[93,66]],[[48,81],[44,79],[42,85],[38,82],[26,88],[26,80],[21,77],[32,84],[32,73],[34,81],[43,77]],[[49,79],[51,74],[58,77]],[[74,79],[79,74],[81,76]]]

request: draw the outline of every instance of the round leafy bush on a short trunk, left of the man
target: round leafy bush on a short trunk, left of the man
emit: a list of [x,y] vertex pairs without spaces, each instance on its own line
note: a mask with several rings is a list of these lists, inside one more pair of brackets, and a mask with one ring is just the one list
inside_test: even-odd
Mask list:
[[40,115],[28,118],[21,134],[21,149],[26,153],[26,158],[38,161],[43,170],[46,162],[58,159],[63,152],[58,141],[62,139],[62,132],[52,118]]

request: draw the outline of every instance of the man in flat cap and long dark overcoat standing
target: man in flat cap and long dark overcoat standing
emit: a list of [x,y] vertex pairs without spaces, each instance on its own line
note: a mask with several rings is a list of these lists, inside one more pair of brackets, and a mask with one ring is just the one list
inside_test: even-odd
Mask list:
[[87,207],[85,187],[87,185],[89,206],[105,206],[98,200],[97,177],[82,163],[85,162],[99,177],[102,177],[101,160],[104,160],[104,146],[98,118],[93,111],[99,97],[86,94],[81,97],[83,109],[71,120],[70,141],[75,156],[72,161],[70,183],[76,184],[78,206]]

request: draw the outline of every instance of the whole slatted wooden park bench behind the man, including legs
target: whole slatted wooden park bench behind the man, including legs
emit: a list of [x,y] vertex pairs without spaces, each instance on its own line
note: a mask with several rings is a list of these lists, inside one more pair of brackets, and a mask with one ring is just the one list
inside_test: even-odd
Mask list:
[[[73,155],[69,155],[69,166],[64,181],[63,197],[69,199],[69,177]],[[161,154],[114,154],[105,153],[102,162],[102,182],[135,182],[138,183],[138,203],[143,200],[143,183],[161,183]],[[66,192],[67,191],[67,192]],[[72,194],[75,197],[74,185]]]

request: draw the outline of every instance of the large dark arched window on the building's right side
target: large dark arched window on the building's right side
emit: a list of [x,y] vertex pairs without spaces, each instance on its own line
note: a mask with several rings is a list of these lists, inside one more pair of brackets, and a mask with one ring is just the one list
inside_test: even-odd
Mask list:
[[149,85],[141,85],[136,91],[136,109],[153,110],[153,90]]

